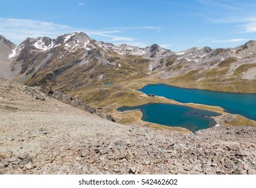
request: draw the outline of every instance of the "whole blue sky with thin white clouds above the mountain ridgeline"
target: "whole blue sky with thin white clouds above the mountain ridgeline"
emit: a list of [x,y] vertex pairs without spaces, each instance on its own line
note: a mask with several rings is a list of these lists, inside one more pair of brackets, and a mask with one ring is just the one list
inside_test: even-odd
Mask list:
[[156,43],[175,52],[233,48],[256,40],[255,10],[252,0],[11,0],[1,2],[0,34],[15,44],[83,31],[95,40]]

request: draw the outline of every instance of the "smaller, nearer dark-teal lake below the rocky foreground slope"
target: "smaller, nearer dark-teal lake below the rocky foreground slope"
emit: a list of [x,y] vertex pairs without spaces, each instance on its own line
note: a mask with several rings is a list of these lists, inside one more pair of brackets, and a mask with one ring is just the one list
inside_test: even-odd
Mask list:
[[195,109],[183,105],[165,103],[148,103],[135,107],[120,107],[118,111],[140,109],[142,120],[165,126],[183,127],[191,131],[210,128],[216,124],[209,116],[218,116],[219,113],[204,109]]

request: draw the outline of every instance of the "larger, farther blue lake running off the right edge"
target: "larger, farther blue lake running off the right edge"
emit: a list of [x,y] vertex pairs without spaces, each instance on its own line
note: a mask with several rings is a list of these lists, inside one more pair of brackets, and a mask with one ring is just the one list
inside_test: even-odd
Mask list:
[[240,114],[256,120],[256,94],[184,89],[165,84],[146,85],[140,91],[174,99],[181,103],[216,105],[224,108],[228,113]]

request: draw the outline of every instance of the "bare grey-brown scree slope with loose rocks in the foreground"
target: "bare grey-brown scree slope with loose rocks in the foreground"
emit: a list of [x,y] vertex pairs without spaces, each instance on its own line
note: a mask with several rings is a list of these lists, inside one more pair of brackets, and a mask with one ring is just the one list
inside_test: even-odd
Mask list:
[[256,173],[255,127],[123,126],[31,91],[0,79],[0,174]]

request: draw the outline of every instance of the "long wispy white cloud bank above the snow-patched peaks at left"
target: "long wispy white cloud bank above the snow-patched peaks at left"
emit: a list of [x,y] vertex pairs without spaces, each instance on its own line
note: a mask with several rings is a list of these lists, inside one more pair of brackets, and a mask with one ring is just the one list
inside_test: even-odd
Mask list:
[[69,34],[77,31],[83,31],[92,38],[104,40],[105,42],[114,42],[116,44],[137,44],[144,47],[146,44],[136,38],[125,36],[125,30],[160,30],[157,27],[130,27],[130,28],[109,28],[103,30],[88,30],[86,28],[72,28],[69,26],[38,21],[32,19],[3,19],[0,17],[0,34],[11,40],[15,44],[20,44],[26,38],[38,38],[48,36],[56,38],[62,34]]

